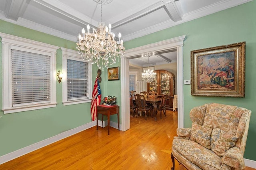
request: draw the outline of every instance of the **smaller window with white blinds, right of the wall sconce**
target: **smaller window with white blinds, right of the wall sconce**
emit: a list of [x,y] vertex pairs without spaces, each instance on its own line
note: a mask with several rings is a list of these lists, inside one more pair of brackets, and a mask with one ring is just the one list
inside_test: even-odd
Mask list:
[[68,101],[88,99],[88,63],[67,59]]

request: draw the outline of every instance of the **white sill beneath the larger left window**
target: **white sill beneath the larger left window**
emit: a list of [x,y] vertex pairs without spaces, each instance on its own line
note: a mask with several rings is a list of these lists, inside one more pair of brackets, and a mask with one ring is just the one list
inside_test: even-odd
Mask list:
[[4,111],[4,114],[23,112],[23,111],[32,111],[37,109],[46,109],[46,108],[56,107],[56,104],[57,103],[47,103],[47,104],[21,106],[21,107],[12,107],[9,109],[2,109],[2,111]]

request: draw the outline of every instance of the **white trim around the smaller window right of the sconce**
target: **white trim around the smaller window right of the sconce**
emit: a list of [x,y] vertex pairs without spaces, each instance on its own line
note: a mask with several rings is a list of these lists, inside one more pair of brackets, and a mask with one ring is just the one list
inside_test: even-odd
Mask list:
[[68,101],[68,85],[67,85],[67,59],[72,59],[76,61],[84,61],[81,57],[81,55],[78,54],[78,51],[72,50],[72,49],[66,49],[66,48],[61,48],[62,49],[62,103],[64,106],[66,105],[75,105],[75,104],[80,104],[80,103],[89,103],[92,101],[92,64],[88,62],[88,91],[89,91],[89,99],[75,99],[75,100],[70,100]]

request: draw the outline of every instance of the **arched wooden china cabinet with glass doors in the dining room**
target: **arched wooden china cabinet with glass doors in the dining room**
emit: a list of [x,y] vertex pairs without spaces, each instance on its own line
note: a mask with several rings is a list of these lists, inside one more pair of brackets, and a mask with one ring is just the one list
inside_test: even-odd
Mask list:
[[166,70],[155,70],[156,81],[147,83],[147,91],[155,91],[158,93],[158,97],[162,97],[164,94],[168,95],[166,102],[166,109],[172,110],[173,95],[174,95],[174,81],[175,75]]

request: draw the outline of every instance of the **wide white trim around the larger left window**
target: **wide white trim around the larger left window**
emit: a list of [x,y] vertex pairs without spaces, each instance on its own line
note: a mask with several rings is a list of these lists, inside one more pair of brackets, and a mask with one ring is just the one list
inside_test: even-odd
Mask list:
[[[4,114],[36,109],[56,107],[56,50],[57,46],[41,43],[26,38],[20,38],[9,34],[0,33],[2,38],[2,111]],[[32,104],[26,106],[12,107],[12,49],[34,52],[43,55],[50,55],[51,70],[51,100],[49,103]]]

